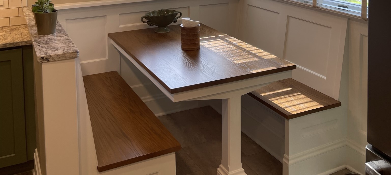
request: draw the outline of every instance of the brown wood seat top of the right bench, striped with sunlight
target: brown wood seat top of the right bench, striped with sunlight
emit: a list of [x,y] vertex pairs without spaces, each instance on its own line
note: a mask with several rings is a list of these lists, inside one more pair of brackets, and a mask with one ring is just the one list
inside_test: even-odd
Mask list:
[[341,106],[341,102],[294,79],[274,82],[248,95],[288,120]]

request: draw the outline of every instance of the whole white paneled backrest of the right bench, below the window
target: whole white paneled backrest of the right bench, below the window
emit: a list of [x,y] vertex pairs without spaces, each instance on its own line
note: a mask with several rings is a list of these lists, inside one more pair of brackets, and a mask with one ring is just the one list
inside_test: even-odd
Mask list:
[[347,18],[243,0],[239,39],[297,64],[292,78],[338,100]]

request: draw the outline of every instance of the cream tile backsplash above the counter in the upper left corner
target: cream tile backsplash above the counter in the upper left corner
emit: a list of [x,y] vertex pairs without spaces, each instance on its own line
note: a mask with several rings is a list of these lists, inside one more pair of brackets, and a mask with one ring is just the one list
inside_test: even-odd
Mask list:
[[22,6],[27,6],[27,0],[3,0],[3,5],[0,5],[0,27],[26,24]]

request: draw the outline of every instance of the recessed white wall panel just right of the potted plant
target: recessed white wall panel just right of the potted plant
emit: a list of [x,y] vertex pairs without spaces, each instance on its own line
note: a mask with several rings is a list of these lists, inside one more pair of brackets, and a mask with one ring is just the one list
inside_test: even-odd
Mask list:
[[106,58],[106,16],[68,19],[66,32],[84,51],[80,52],[80,62]]

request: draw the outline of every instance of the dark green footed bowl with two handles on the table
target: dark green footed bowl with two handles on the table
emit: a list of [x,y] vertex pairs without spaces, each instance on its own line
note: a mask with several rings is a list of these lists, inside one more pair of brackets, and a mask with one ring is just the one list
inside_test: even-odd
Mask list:
[[[179,13],[179,16],[176,17]],[[176,23],[178,18],[181,18],[182,13],[176,10],[169,9],[161,9],[158,11],[151,11],[145,13],[143,17],[141,17],[141,21],[143,23],[147,23],[150,26],[158,26],[158,29],[155,30],[156,33],[167,33],[170,32],[170,29],[167,29],[167,25],[170,23]],[[144,21],[143,19],[148,21]]]

